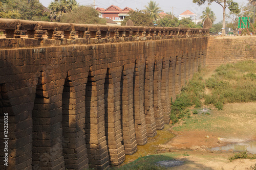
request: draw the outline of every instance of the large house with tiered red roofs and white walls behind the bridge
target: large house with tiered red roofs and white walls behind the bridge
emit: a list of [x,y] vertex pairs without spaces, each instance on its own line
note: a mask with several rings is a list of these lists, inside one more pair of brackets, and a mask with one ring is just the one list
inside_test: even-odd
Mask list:
[[96,10],[99,11],[99,17],[112,19],[113,21],[121,25],[121,21],[123,21],[125,16],[128,16],[127,13],[129,11],[132,11],[133,9],[128,7],[121,9],[117,6],[111,5],[106,9],[98,7],[96,8]]

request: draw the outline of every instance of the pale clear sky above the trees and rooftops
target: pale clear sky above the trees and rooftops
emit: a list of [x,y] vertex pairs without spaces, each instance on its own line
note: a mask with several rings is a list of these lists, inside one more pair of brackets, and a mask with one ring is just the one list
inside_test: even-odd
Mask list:
[[[49,6],[49,4],[54,0],[39,0],[40,3],[46,7]],[[93,0],[76,0],[79,5],[92,5]],[[172,12],[172,8],[174,7],[174,15],[178,16],[179,14],[183,13],[186,10],[189,10],[195,14],[202,15],[202,11],[207,7],[207,5],[198,6],[197,4],[193,3],[193,0],[153,0],[156,1],[161,9],[164,12]],[[245,6],[248,3],[248,0],[233,0],[240,5]],[[116,5],[120,8],[124,7],[130,7],[134,10],[136,9],[144,9],[144,6],[147,5],[147,3],[150,2],[150,0],[95,0],[96,7],[100,8],[108,8],[111,5]],[[210,5],[210,8],[212,11],[214,11],[217,19],[215,23],[219,22],[223,18],[223,10],[222,7],[217,3],[212,3]],[[228,11],[228,10],[227,10]],[[227,13],[227,12],[226,12]]]

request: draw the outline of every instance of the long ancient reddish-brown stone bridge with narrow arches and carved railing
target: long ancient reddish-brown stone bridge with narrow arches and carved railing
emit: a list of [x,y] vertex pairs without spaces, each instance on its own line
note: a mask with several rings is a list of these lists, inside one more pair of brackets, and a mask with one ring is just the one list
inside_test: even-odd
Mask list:
[[209,39],[206,29],[15,19],[0,29],[1,169],[121,164],[169,123]]

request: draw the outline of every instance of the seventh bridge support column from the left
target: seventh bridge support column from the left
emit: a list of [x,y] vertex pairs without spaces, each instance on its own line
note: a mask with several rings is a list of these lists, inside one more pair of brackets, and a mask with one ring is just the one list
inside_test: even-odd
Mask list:
[[147,142],[144,115],[144,69],[145,61],[142,59],[136,60],[134,72],[134,119],[138,145],[143,145]]

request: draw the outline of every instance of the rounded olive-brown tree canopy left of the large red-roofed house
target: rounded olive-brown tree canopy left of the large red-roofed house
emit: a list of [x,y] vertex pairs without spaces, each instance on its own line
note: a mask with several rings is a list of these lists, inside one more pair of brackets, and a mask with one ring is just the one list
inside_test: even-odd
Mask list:
[[60,17],[61,22],[89,23],[105,25],[106,20],[99,17],[99,12],[92,6],[79,6]]

